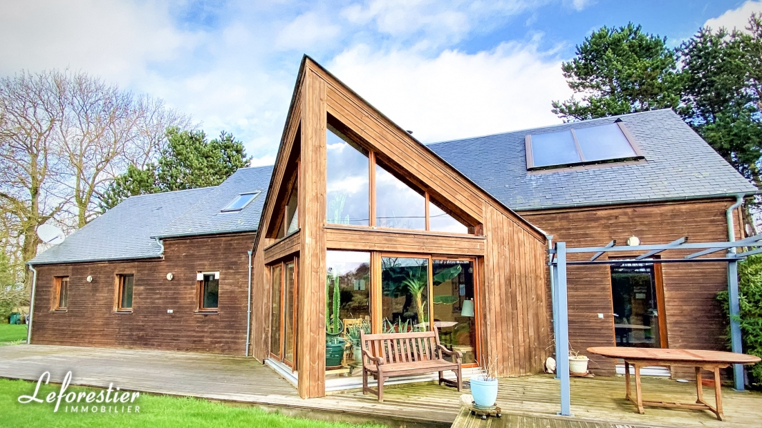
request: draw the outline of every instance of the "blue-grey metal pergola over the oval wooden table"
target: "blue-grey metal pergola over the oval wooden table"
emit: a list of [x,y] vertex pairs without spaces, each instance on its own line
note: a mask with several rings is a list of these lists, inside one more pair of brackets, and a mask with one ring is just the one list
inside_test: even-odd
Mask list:
[[[552,239],[552,236],[549,238]],[[738,252],[738,248],[749,247],[747,251]],[[556,372],[561,380],[561,411],[559,414],[571,416],[571,392],[569,387],[569,363],[568,355],[568,302],[566,267],[569,265],[622,265],[632,263],[706,263],[724,262],[728,264],[728,298],[730,303],[730,331],[732,351],[741,353],[741,325],[738,322],[738,262],[752,254],[762,252],[762,234],[751,236],[738,241],[724,243],[688,243],[688,238],[676,239],[668,244],[616,246],[616,241],[611,241],[602,247],[566,248],[566,243],[555,243],[548,249],[550,266],[550,285],[552,288],[553,303],[553,332],[555,333],[555,357]],[[689,255],[672,256],[667,258],[652,258],[660,252],[670,250],[692,250]],[[697,251],[696,251],[697,250]],[[724,256],[709,256],[717,252],[726,251]],[[600,256],[610,252],[640,253],[634,258],[617,258],[614,260],[600,260]],[[591,258],[581,260],[568,260],[567,255],[575,253],[592,253]],[[733,366],[735,389],[744,389],[744,366]]]

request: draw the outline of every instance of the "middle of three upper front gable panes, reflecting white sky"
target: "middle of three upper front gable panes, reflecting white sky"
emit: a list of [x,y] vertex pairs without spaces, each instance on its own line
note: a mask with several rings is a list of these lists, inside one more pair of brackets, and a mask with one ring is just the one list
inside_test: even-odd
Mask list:
[[376,165],[376,226],[426,229],[426,200]]

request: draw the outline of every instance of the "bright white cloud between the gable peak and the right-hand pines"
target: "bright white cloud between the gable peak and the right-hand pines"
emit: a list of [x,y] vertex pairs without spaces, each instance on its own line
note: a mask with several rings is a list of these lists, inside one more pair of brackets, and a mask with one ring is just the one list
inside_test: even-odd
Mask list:
[[434,58],[355,46],[328,69],[424,142],[558,123],[550,103],[571,95],[560,59],[533,43]]

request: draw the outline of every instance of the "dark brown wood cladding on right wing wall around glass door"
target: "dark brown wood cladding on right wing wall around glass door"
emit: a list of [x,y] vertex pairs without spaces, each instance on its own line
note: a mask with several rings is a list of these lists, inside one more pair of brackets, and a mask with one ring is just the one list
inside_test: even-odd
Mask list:
[[[567,247],[604,246],[629,236],[642,244],[669,243],[681,236],[689,242],[728,240],[725,210],[734,200],[684,201],[573,210],[522,212],[522,216]],[[736,217],[738,235],[738,221]],[[740,236],[737,236],[740,237]],[[609,253],[612,254],[612,253]],[[663,257],[687,252],[663,252]],[[620,254],[625,256],[625,254]],[[635,254],[632,254],[635,255]],[[575,260],[591,255],[570,254]],[[727,289],[724,263],[661,265],[668,346],[725,350],[727,323],[716,295]],[[568,266],[569,343],[575,350],[614,346],[610,268],[606,265]],[[599,319],[598,313],[604,318]],[[613,360],[591,356],[599,372],[612,374]]]

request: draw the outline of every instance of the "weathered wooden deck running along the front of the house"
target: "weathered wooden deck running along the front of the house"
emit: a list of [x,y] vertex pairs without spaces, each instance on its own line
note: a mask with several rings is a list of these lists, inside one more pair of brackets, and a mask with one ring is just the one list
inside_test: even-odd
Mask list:
[[[73,383],[155,394],[188,395],[231,404],[253,405],[285,414],[325,420],[374,420],[392,426],[449,426],[459,413],[459,393],[432,383],[392,385],[384,402],[359,391],[303,400],[290,383],[252,358],[156,350],[101,349],[18,345],[0,347],[0,377],[36,381],[50,371],[61,382],[72,370]],[[500,420],[469,420],[467,426],[760,426],[762,394],[723,391],[725,416],[721,422],[707,411],[645,409],[637,414],[624,398],[624,379],[571,379],[574,417],[557,417],[559,384],[552,376],[501,379]],[[644,379],[649,399],[695,401],[696,384],[668,379]],[[708,390],[707,390],[708,391]],[[468,390],[466,390],[468,392]],[[464,425],[465,426],[465,425]]]

